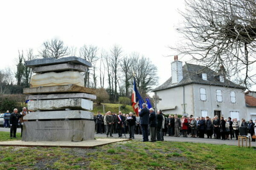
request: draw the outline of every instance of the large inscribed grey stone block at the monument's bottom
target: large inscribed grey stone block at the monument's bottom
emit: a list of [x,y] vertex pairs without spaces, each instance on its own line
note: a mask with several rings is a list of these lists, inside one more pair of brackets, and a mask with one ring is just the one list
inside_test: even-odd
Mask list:
[[93,120],[24,122],[23,141],[72,141],[94,139]]

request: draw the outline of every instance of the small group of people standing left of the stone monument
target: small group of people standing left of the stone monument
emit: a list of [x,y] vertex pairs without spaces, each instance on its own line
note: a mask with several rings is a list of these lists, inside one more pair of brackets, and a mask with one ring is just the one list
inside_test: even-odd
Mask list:
[[20,125],[21,128],[21,135],[22,137],[22,132],[23,132],[23,123],[26,122],[27,120],[23,119],[24,116],[28,114],[27,108],[23,108],[20,113],[18,113],[18,109],[14,109],[13,113],[9,113],[9,111],[6,111],[4,113],[3,119],[4,119],[4,124],[3,127],[5,128],[10,128],[10,137],[11,138],[17,138],[16,132],[17,132],[17,127]]

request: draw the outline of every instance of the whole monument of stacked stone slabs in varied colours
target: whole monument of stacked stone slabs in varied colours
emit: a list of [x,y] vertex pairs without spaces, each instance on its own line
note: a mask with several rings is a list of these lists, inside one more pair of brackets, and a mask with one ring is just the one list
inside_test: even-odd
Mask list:
[[23,141],[73,141],[94,139],[93,99],[95,89],[84,87],[90,62],[79,57],[44,58],[26,62],[36,73],[27,94]]

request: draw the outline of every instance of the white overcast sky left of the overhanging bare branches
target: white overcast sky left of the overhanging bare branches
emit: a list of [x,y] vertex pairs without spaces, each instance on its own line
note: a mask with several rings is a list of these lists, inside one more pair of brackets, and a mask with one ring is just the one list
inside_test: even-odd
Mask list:
[[18,50],[59,38],[80,48],[93,44],[124,53],[137,51],[158,68],[159,84],[171,76],[168,46],[178,41],[183,0],[8,0],[0,2],[0,69],[15,70]]

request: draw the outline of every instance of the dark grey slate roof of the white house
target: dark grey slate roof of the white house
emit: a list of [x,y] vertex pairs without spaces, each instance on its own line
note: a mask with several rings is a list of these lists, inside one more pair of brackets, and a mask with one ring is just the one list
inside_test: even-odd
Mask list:
[[[172,77],[170,77],[168,80],[166,80],[166,82],[164,82],[162,85],[155,88],[153,91],[160,91],[160,90],[174,88],[182,85],[188,85],[192,83],[245,89],[245,87],[241,85],[237,85],[226,78],[224,79],[224,82],[220,82],[218,77],[219,74],[217,72],[202,65],[194,65],[194,64],[186,63],[185,65],[182,66],[182,70],[183,70],[183,79],[179,83],[172,84]],[[202,73],[207,74],[207,80],[202,79]]]

